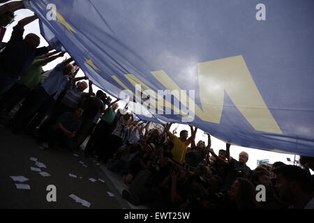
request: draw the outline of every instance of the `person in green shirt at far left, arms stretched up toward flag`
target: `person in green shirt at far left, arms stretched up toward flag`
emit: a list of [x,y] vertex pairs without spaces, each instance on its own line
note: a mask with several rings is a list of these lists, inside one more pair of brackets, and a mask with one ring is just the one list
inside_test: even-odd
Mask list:
[[[36,59],[33,61],[27,75],[24,75],[17,83],[15,83],[3,97],[0,99],[1,113],[8,114],[18,102],[27,98],[33,89],[40,84],[41,75],[43,74],[43,66],[55,59],[64,56],[64,52],[57,54],[57,51],[48,53],[43,59]],[[54,55],[57,54],[57,55]],[[54,55],[54,56],[53,56]]]

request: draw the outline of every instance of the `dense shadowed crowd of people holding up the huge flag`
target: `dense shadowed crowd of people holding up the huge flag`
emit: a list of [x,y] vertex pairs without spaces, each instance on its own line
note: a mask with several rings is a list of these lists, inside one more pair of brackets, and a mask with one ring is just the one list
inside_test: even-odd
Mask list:
[[[22,1],[0,6],[0,25],[24,8]],[[107,169],[123,175],[128,190],[124,199],[151,208],[272,209],[314,208],[313,157],[301,157],[302,167],[275,162],[251,170],[248,153],[230,156],[230,144],[218,155],[208,141],[195,144],[197,128],[170,132],[151,128],[126,108],[118,109],[103,91],[93,92],[87,77],[75,77],[80,68],[73,59],[62,61],[52,70],[43,66],[62,57],[52,47],[40,47],[40,38],[24,26],[36,15],[20,20],[10,40],[0,52],[0,112],[8,115],[22,106],[8,126],[15,134],[26,132],[44,148],[80,150],[96,157]],[[1,36],[0,36],[1,37]],[[89,88],[89,92],[84,92]],[[190,147],[188,147],[190,146]],[[266,199],[257,201],[257,185],[264,185]]]

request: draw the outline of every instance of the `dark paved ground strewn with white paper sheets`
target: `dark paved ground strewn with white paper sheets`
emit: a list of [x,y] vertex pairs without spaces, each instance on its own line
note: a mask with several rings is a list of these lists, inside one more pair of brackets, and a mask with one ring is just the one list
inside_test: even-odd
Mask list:
[[[126,188],[121,176],[97,166],[94,158],[76,154],[79,156],[66,150],[43,150],[35,139],[24,134],[15,135],[0,125],[0,208],[87,208],[71,199],[70,194],[91,203],[89,208],[135,208],[121,198],[121,191]],[[38,162],[45,164],[47,168],[41,170],[51,176],[43,177],[31,171],[31,167],[37,166],[36,162],[29,160],[30,157],[36,157]],[[80,161],[87,167],[83,167]],[[77,178],[68,174],[75,174]],[[17,182],[10,176],[29,178],[24,184],[29,184],[31,189],[18,190]],[[89,178],[97,181],[93,183]],[[57,202],[47,201],[47,185],[57,187]]]

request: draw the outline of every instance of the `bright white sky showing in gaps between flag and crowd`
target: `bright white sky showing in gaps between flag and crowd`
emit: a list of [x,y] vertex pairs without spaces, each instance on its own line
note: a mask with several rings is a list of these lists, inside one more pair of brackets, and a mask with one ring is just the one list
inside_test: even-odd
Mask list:
[[[23,10],[18,10],[17,12],[15,12],[15,15],[17,15],[15,17],[15,22],[13,24],[10,24],[10,26],[7,27],[6,35],[3,38],[3,42],[7,42],[10,39],[10,33],[12,32],[12,28],[13,28],[13,26],[15,26],[15,24],[17,24],[17,22],[19,20],[21,20],[24,17],[31,16],[31,15],[33,15],[33,13],[30,10],[23,9]],[[36,33],[38,36],[40,36],[40,47],[48,45],[48,43],[45,41],[45,39],[40,35],[38,20],[25,26],[24,36],[26,36],[27,33]],[[57,63],[60,63],[61,61],[66,59],[66,57],[69,58],[70,56],[68,54],[66,54],[65,56],[63,56],[63,58],[59,58],[56,61],[45,66],[44,70],[50,70],[50,69],[54,68],[54,66],[56,66]],[[77,77],[81,77],[83,75],[84,75],[84,73],[82,71],[80,71],[78,73]],[[93,86],[93,88],[94,88],[94,91],[98,90],[98,88],[96,86]],[[103,90],[105,90],[105,89],[103,89]],[[86,91],[88,91],[88,89]],[[112,98],[114,98],[114,97],[112,97]],[[124,102],[119,102],[119,106],[123,107]],[[178,124],[173,124],[172,128],[170,130],[172,131],[177,126],[178,126]],[[184,130],[184,129],[188,130],[189,135],[190,135],[190,128],[188,127],[188,125],[179,125],[179,127],[177,129],[178,134],[181,130]],[[196,139],[195,139],[196,143],[198,140],[203,140],[207,143],[207,135],[204,135],[203,133],[204,132],[202,130],[198,130],[197,135],[196,135]],[[217,154],[218,154],[219,149],[222,149],[222,148],[225,149],[225,143],[223,141],[215,139],[214,137],[211,137],[211,138],[212,138],[212,143],[211,143],[212,146],[211,147],[214,148],[214,151]],[[269,159],[270,163],[274,163],[276,161],[281,161],[281,162],[284,162],[285,164],[293,164],[293,160],[294,160],[294,155],[290,155],[290,154],[274,153],[274,152],[269,152],[269,151],[262,151],[262,150],[257,150],[257,149],[253,149],[253,148],[245,148],[245,147],[233,146],[233,145],[230,148],[230,155],[232,157],[234,157],[236,160],[238,160],[239,153],[241,153],[241,151],[246,151],[246,153],[248,153],[249,159],[248,159],[247,165],[251,169],[255,169],[257,167],[257,160]],[[292,162],[288,162],[287,157],[290,158],[292,160]],[[299,160],[299,156],[297,155],[296,157],[297,157],[297,160]]]

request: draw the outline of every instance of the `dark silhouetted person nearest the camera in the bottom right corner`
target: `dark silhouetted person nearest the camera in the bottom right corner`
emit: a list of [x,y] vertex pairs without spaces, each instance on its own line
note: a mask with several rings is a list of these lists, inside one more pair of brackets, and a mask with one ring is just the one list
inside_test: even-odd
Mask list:
[[314,209],[314,185],[308,172],[292,165],[284,165],[273,171],[275,188],[281,201],[292,209]]

